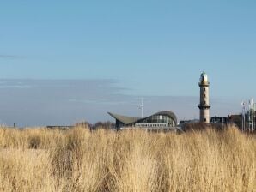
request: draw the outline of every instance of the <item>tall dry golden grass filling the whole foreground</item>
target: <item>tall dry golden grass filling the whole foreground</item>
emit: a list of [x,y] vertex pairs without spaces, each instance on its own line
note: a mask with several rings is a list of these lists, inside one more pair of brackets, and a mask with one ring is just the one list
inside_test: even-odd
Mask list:
[[0,191],[256,191],[256,137],[3,128]]

